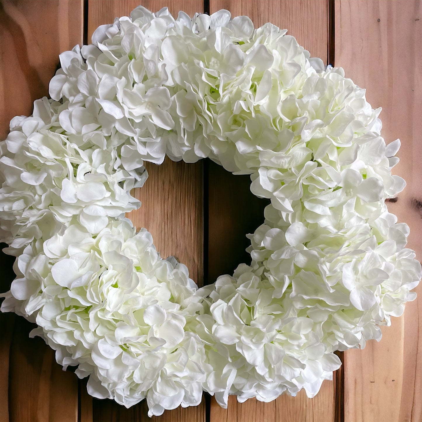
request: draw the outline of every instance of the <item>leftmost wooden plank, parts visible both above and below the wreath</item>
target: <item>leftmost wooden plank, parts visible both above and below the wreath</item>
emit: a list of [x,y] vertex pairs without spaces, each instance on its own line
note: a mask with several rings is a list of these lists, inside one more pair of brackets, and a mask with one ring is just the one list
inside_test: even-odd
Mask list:
[[[32,102],[48,95],[59,53],[82,41],[82,19],[82,0],[0,3],[0,139],[12,117],[30,115]],[[2,292],[13,279],[8,271],[11,261],[3,255]],[[23,318],[2,314],[0,325],[1,420],[76,421],[77,378],[62,371],[43,340],[28,338],[33,326]]]

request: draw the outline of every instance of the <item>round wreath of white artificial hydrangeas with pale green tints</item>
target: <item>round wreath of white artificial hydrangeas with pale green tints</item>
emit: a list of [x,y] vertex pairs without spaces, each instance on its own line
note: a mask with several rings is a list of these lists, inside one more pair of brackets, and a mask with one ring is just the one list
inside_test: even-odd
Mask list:
[[[317,394],[336,350],[381,338],[421,278],[408,226],[384,200],[380,109],[341,68],[246,16],[143,7],[60,54],[51,100],[0,143],[0,217],[17,278],[3,311],[38,328],[88,391],[149,415]],[[252,263],[197,289],[124,214],[143,161],[209,157],[271,200]]]

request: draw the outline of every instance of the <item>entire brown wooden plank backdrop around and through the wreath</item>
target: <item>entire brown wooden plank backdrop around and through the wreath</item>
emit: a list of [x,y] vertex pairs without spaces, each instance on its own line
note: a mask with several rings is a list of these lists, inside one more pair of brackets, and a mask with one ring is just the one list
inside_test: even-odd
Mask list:
[[[87,43],[100,24],[113,22],[141,0],[0,0],[0,139],[8,122],[32,112],[32,101],[47,95],[58,54]],[[227,8],[247,14],[255,26],[272,22],[298,42],[368,89],[374,108],[382,106],[382,134],[400,137],[400,163],[394,171],[408,185],[389,203],[411,227],[408,246],[422,257],[422,2],[419,0],[151,0],[212,13]],[[243,252],[262,222],[264,200],[249,192],[248,176],[233,176],[209,161],[149,165],[151,178],[136,192],[143,201],[130,217],[154,235],[163,256],[187,264],[198,284],[231,273],[247,259]],[[173,189],[176,187],[177,189]],[[170,198],[171,192],[171,198]],[[176,197],[175,197],[176,195]],[[154,211],[153,211],[154,210]],[[157,211],[158,210],[158,211]],[[1,291],[13,279],[10,257],[1,255]],[[234,397],[227,410],[204,396],[200,406],[166,411],[160,422],[422,421],[422,285],[403,317],[383,329],[381,343],[341,354],[344,365],[324,381],[314,399],[300,393],[272,403]],[[0,421],[146,421],[147,408],[130,409],[87,395],[86,382],[63,372],[40,338],[29,339],[31,325],[14,314],[0,315]]]

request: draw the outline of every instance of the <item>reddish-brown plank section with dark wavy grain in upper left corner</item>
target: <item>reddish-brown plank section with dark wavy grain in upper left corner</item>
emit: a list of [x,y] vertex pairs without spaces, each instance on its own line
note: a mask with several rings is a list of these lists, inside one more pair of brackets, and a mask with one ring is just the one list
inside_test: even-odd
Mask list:
[[0,139],[48,95],[59,54],[81,43],[83,0],[0,1]]

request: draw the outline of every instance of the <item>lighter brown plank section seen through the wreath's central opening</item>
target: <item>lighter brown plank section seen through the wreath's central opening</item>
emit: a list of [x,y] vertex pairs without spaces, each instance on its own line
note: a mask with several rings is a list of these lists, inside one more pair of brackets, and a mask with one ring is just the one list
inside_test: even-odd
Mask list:
[[145,227],[163,258],[176,257],[189,276],[203,284],[203,163],[187,164],[165,158],[161,165],[146,163],[148,179],[135,197],[142,206],[128,214]]

